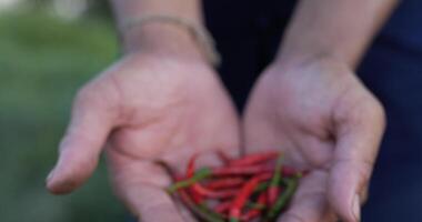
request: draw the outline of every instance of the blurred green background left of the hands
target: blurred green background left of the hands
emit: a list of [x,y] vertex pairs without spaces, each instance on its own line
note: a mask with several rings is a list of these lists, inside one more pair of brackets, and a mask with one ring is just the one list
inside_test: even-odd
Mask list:
[[74,92],[118,57],[104,1],[0,0],[0,221],[122,221],[104,161],[77,192],[44,178]]

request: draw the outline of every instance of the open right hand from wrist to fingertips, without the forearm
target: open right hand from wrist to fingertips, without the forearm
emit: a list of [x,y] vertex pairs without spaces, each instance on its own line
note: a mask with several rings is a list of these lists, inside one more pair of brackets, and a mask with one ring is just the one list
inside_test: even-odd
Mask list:
[[359,221],[383,130],[380,102],[328,58],[270,67],[244,118],[247,152],[281,149],[287,164],[310,172],[282,222]]

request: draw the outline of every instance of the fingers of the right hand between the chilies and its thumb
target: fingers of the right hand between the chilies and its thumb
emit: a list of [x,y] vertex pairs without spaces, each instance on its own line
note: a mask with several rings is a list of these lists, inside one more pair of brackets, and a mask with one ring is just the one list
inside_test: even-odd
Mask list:
[[[312,171],[300,181],[290,208],[279,222],[331,222],[333,213],[326,201],[328,173]],[[335,219],[335,218],[334,218]]]

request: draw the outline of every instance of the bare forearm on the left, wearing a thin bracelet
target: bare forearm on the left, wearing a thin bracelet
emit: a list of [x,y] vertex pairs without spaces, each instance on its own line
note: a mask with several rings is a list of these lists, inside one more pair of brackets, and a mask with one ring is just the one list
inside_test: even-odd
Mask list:
[[128,27],[128,21],[144,16],[174,17],[201,24],[200,0],[110,0],[124,51],[139,49],[198,56],[189,31],[165,22]]

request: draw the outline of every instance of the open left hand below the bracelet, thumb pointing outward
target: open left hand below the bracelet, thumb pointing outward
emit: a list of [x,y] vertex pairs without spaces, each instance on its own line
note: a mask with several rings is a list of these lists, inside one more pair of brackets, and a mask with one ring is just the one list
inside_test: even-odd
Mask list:
[[192,221],[164,192],[171,179],[154,161],[184,171],[195,152],[235,153],[238,123],[227,92],[200,59],[132,53],[79,92],[48,189],[60,194],[80,186],[107,143],[113,186],[133,214],[145,222]]

